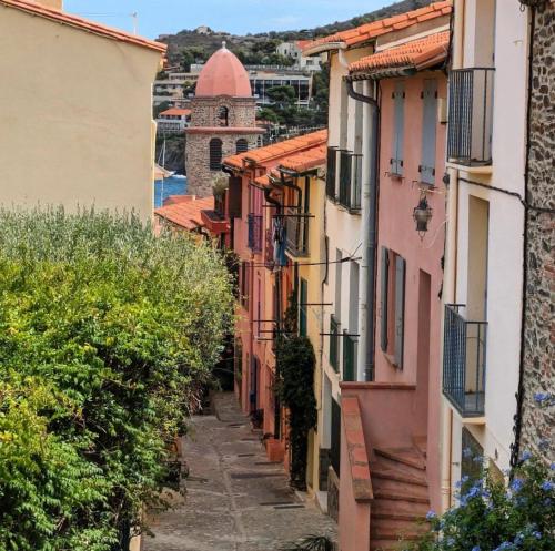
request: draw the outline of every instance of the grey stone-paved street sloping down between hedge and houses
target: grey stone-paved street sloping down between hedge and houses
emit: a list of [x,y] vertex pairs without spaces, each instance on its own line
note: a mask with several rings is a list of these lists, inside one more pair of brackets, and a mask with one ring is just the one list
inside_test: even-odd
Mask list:
[[230,394],[216,416],[195,417],[185,439],[190,468],[184,503],[152,521],[143,551],[273,551],[307,534],[333,533],[334,522],[287,486],[270,463]]

